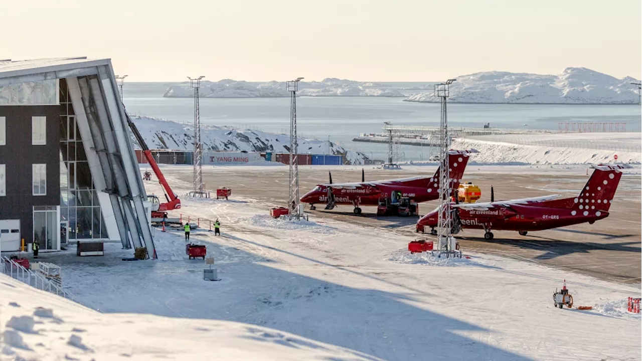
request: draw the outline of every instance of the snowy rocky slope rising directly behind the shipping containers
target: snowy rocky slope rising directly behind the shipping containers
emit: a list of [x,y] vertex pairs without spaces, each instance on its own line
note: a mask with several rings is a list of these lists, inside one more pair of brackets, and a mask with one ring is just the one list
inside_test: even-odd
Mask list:
[[[157,118],[131,116],[145,143],[150,149],[188,149],[194,148],[194,128],[175,121]],[[204,150],[246,151],[246,152],[290,152],[290,136],[259,130],[236,130],[229,127],[201,126]],[[136,141],[132,135],[134,145]],[[363,164],[365,154],[352,152],[340,145],[318,139],[299,138],[300,154],[345,155],[350,164]]]

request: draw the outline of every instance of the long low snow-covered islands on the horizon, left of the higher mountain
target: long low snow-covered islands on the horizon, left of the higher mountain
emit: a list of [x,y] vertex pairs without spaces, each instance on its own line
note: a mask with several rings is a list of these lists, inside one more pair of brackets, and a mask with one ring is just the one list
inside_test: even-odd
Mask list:
[[[186,82],[171,85],[163,96],[186,98],[193,94],[193,89]],[[298,94],[300,96],[404,96],[396,89],[383,84],[337,78],[325,78],[321,82],[300,82]],[[202,98],[278,98],[290,96],[290,92],[286,89],[286,82],[261,83],[223,79],[218,82],[201,82],[200,96]]]

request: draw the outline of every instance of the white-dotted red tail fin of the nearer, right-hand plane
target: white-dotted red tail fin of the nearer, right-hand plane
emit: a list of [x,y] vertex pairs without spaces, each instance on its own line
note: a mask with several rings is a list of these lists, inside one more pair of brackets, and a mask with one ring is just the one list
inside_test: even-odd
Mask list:
[[573,209],[586,211],[609,211],[620,178],[621,169],[632,168],[629,164],[598,164],[592,166],[593,174],[573,199]]

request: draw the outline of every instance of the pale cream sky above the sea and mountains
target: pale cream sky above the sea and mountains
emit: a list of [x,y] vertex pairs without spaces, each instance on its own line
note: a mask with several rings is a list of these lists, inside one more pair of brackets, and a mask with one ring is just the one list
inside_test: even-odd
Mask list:
[[111,58],[128,81],[642,78],[642,0],[4,0],[0,58]]

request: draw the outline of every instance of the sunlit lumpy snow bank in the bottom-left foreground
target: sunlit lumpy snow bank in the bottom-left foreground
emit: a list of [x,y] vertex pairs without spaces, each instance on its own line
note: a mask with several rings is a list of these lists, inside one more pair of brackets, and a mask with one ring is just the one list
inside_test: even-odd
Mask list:
[[0,295],[3,360],[378,360],[241,322],[104,314],[4,274]]

